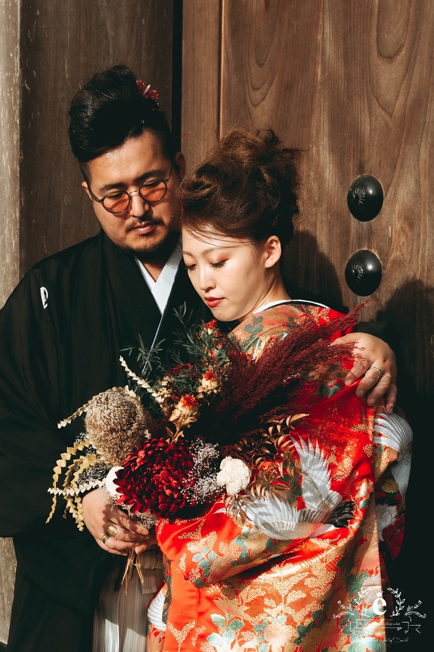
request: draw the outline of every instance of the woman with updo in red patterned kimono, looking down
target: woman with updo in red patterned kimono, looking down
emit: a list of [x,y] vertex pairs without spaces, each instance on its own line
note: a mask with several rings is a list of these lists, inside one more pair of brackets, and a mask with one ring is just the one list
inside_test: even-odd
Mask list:
[[[283,284],[298,159],[272,131],[233,129],[181,188],[192,284],[216,319],[239,320],[233,334],[257,365],[306,316],[313,328],[339,317]],[[249,477],[226,457],[225,496],[207,514],[156,524],[166,584],[149,608],[149,650],[345,650],[360,638],[383,649],[382,554],[398,553],[411,431],[356,398],[358,383],[345,387],[351,364],[324,374],[313,358],[303,375],[308,387],[322,374],[321,395],[307,392],[304,413],[270,430]]]

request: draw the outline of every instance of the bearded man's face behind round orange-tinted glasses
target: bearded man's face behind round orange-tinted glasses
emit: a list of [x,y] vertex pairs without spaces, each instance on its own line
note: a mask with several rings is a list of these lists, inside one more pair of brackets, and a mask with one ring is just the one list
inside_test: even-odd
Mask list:
[[[141,136],[130,138],[120,147],[89,162],[90,188],[98,199],[114,190],[132,192],[145,181],[167,179],[171,163],[163,155],[156,136],[145,131]],[[158,258],[158,253],[164,252],[164,245],[168,241],[174,244],[176,240],[174,236],[179,231],[181,213],[176,191],[184,172],[185,160],[179,152],[175,156],[164,198],[149,203],[134,193],[128,209],[117,215],[109,213],[101,203],[93,200],[85,181],[82,185],[93,201],[95,215],[109,239],[145,262]]]

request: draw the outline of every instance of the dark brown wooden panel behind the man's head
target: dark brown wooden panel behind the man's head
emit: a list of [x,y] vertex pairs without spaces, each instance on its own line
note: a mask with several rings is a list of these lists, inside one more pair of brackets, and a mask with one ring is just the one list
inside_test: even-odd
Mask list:
[[70,153],[70,98],[96,70],[124,63],[171,114],[171,0],[22,1],[20,273],[98,231]]

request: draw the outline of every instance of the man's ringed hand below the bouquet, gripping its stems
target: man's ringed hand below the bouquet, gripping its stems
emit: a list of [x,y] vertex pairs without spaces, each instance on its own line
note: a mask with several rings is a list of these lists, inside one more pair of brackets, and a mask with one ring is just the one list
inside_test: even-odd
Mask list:
[[[83,518],[85,526],[93,535],[98,546],[113,555],[127,555],[130,550],[143,552],[156,544],[155,533],[149,533],[145,527],[129,518],[119,507],[108,502],[104,490],[94,489],[83,497]],[[114,537],[108,537],[103,543],[107,528],[115,526]]]

